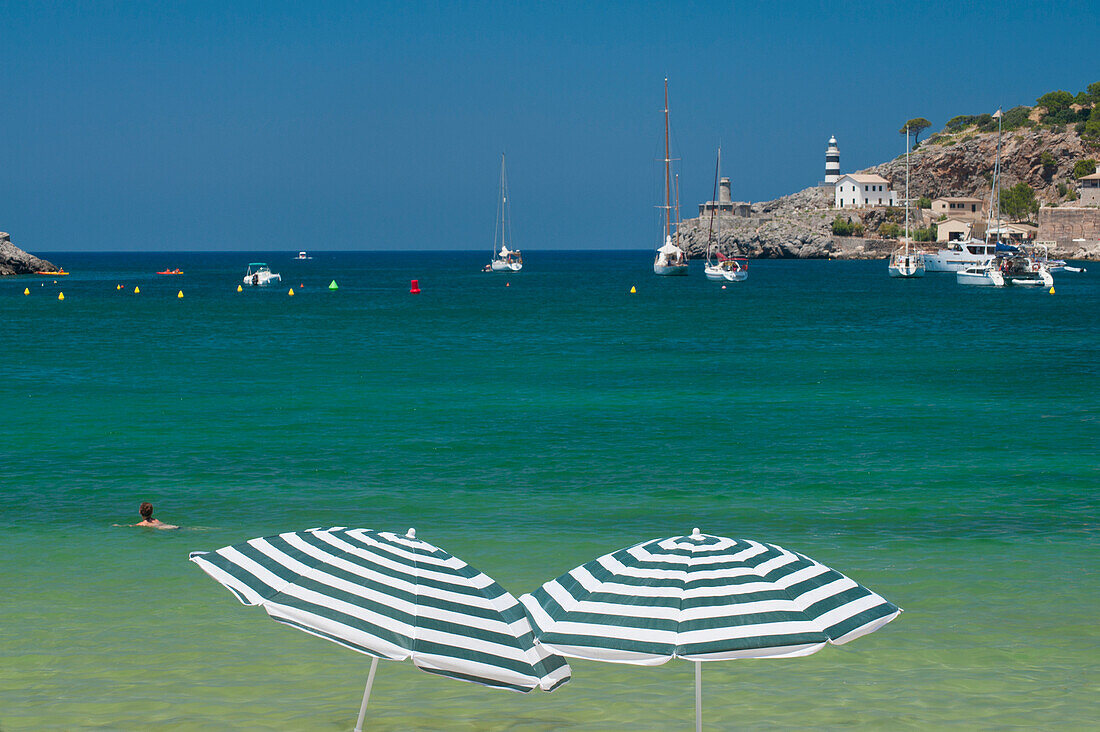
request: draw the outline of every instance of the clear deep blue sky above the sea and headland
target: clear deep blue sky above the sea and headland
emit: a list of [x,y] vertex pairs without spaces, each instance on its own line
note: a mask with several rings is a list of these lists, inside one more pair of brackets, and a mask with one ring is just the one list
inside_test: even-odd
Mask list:
[[762,200],[1100,80],[1076,2],[0,2],[0,230],[31,251],[648,249],[671,89]]

